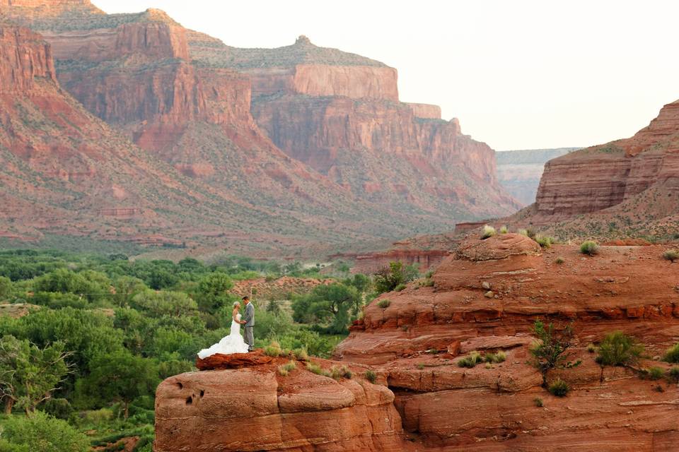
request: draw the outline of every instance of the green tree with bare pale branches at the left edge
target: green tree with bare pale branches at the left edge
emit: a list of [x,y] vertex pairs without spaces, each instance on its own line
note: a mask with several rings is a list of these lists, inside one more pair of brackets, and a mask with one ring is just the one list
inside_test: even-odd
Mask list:
[[0,339],[0,395],[5,412],[13,405],[30,414],[37,405],[52,397],[69,371],[63,343],[39,348],[13,335]]

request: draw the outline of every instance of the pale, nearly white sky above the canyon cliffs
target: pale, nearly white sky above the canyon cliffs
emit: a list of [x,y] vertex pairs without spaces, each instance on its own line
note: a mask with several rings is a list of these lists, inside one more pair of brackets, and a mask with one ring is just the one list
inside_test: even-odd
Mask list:
[[160,8],[236,47],[298,35],[398,70],[405,102],[441,105],[497,150],[632,136],[679,99],[677,1],[93,0]]

